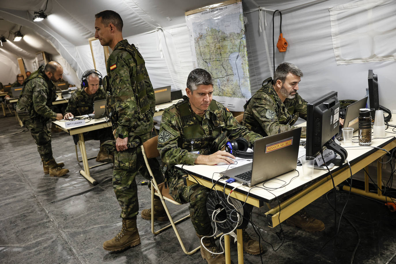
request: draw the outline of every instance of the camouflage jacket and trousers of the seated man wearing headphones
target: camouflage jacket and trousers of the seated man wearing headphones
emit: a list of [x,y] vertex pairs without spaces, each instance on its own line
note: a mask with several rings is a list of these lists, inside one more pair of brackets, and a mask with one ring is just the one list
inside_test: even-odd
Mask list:
[[[83,87],[71,95],[65,110],[65,114],[72,113],[73,116],[91,114],[93,112],[93,102],[104,99],[106,99],[106,92],[102,87],[99,87],[99,89],[93,95],[86,93]],[[114,137],[111,127],[106,127],[84,133],[84,139],[99,140],[102,144],[107,140],[114,140]]]

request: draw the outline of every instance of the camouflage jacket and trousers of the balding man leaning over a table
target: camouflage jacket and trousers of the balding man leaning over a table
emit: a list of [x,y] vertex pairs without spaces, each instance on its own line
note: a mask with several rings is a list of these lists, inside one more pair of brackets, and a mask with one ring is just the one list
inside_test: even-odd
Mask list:
[[55,98],[55,86],[41,66],[25,80],[16,108],[19,118],[36,141],[38,153],[46,162],[53,159],[47,122],[56,119],[56,113],[49,108]]

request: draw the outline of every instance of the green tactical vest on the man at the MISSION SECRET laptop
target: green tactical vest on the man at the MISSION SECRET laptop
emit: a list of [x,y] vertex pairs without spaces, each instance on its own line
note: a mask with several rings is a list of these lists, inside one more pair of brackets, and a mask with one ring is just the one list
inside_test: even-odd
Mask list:
[[221,144],[227,140],[227,133],[222,133],[222,128],[225,126],[221,111],[215,114],[215,110],[219,110],[216,101],[212,100],[209,105],[209,132],[211,135],[205,133],[202,126],[204,125],[198,120],[196,114],[188,105],[188,100],[184,100],[176,105],[180,113],[181,129],[183,138],[180,138],[178,145],[188,150],[199,151],[200,154],[209,155],[218,150]]

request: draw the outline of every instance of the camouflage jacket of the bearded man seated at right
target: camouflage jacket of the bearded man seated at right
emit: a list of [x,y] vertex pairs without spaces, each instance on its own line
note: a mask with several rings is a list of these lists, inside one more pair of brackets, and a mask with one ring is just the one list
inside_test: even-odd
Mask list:
[[[267,82],[267,84],[265,84]],[[293,99],[282,102],[272,87],[272,78],[261,87],[244,106],[242,125],[263,137],[295,129],[299,117],[307,120],[307,102],[296,93]],[[301,132],[305,136],[306,129]]]

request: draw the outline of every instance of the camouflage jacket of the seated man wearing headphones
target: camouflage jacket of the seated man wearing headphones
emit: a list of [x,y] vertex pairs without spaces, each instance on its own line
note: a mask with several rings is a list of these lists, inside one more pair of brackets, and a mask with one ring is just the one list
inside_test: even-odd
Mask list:
[[75,91],[69,99],[65,114],[72,113],[73,116],[81,116],[83,114],[91,114],[93,112],[93,102],[106,99],[106,92],[103,87],[93,95],[86,93],[84,87]]

